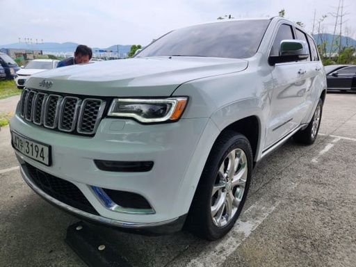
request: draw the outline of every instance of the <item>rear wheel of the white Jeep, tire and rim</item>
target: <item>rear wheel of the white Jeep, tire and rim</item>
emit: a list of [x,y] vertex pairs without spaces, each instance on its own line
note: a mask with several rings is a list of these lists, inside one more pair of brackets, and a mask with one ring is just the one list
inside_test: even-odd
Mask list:
[[294,136],[296,142],[304,145],[312,145],[318,136],[319,127],[321,124],[321,115],[323,113],[323,100],[319,99],[316,105],[312,120],[307,128],[298,131]]

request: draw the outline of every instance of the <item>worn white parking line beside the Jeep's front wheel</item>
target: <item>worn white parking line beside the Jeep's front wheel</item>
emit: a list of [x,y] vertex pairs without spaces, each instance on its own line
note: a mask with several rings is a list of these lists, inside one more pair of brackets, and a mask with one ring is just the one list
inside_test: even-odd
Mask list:
[[[243,241],[272,213],[280,203],[266,207],[264,204],[253,204],[242,216],[244,221],[238,220],[232,230],[220,241],[211,242],[204,250],[204,254],[192,259],[188,267],[219,266],[238,248]],[[241,217],[242,217],[241,216]],[[247,220],[246,220],[247,219]],[[242,236],[242,238],[240,238]]]

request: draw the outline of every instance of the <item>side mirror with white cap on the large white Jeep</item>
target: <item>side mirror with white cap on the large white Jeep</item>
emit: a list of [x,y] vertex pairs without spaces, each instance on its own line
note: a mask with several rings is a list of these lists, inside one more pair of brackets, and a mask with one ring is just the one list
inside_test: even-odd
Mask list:
[[304,60],[309,57],[307,42],[303,40],[282,40],[280,44],[280,56],[270,56],[268,63],[275,65],[277,63],[286,63]]

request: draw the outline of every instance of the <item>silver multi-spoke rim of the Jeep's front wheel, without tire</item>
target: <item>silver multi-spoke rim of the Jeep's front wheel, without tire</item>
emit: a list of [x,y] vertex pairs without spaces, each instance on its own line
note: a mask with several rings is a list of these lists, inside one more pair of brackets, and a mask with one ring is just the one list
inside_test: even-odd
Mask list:
[[214,225],[227,225],[243,200],[248,177],[248,160],[242,149],[229,152],[221,163],[211,193],[211,218]]

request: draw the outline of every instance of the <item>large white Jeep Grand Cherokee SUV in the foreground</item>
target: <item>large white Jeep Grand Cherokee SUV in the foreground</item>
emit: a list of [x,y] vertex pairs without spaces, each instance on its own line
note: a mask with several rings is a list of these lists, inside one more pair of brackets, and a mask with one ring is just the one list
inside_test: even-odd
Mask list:
[[255,163],[291,136],[314,143],[326,94],[313,38],[282,17],[189,26],[25,86],[10,131],[36,193],[86,220],[209,240],[236,222]]

